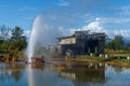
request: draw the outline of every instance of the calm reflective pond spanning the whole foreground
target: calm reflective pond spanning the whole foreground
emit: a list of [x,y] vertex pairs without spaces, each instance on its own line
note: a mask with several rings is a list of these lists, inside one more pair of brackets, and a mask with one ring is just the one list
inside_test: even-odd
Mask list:
[[0,86],[130,86],[130,68],[107,63],[0,63]]

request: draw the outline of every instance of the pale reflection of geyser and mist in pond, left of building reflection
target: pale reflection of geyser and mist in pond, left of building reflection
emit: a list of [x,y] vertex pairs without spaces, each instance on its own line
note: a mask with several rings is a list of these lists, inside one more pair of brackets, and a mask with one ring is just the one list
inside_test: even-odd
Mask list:
[[54,64],[42,66],[43,69],[36,67],[30,67],[32,69],[27,67],[28,86],[74,86],[68,80],[60,77],[60,67]]

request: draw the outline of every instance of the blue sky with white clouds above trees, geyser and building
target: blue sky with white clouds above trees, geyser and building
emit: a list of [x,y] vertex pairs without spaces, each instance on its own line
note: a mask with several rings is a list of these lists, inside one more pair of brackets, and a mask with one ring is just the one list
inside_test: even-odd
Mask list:
[[39,14],[63,34],[89,29],[130,38],[130,0],[0,0],[0,26],[28,32]]

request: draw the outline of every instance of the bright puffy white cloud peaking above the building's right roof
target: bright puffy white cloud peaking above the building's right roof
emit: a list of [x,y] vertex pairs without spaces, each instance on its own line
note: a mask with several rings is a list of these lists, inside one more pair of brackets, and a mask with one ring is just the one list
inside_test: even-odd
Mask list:
[[[130,38],[130,30],[128,30],[128,29],[108,30],[103,26],[102,23],[104,23],[104,22],[101,22],[101,20],[103,20],[103,19],[95,18],[94,22],[83,26],[81,30],[91,30],[93,32],[105,32],[109,38],[114,38],[115,35],[122,35],[125,38]],[[114,20],[112,20],[112,22],[114,22]]]

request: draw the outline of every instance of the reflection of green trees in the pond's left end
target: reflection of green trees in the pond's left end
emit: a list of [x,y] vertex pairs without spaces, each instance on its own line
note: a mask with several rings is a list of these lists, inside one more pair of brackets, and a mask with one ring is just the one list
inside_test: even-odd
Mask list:
[[16,64],[16,63],[6,63],[2,67],[1,74],[0,74],[0,81],[4,82],[8,80],[14,78],[16,82],[21,80],[22,77],[22,70],[25,67],[23,64]]

